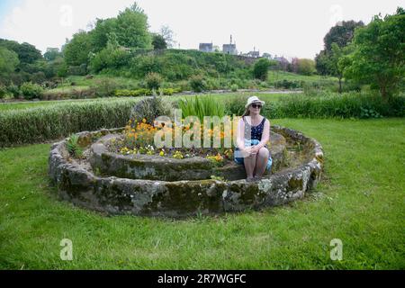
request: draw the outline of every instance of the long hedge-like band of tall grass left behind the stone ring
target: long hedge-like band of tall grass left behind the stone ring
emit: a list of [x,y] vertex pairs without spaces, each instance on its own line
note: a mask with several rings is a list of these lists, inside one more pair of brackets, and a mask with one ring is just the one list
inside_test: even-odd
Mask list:
[[0,147],[38,143],[71,133],[122,127],[138,99],[109,99],[88,103],[10,110],[0,113]]

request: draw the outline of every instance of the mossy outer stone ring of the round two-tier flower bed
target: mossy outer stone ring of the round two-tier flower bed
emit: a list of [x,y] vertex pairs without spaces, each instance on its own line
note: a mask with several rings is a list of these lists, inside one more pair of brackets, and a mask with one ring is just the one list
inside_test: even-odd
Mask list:
[[[81,132],[81,139],[115,130]],[[280,205],[302,198],[319,181],[323,166],[320,143],[301,132],[273,126],[272,130],[308,148],[310,160],[302,166],[283,170],[256,183],[245,180],[186,180],[166,182],[100,177],[75,166],[64,157],[65,140],[55,143],[49,155],[49,175],[58,192],[85,208],[108,214],[186,217],[196,213],[220,214]]]

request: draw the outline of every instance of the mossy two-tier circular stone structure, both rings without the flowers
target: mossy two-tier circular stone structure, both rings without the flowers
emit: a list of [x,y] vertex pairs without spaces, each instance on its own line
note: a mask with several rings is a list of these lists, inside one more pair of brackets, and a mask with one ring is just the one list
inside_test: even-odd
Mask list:
[[244,166],[234,162],[214,166],[203,157],[112,153],[109,142],[122,130],[78,133],[83,159],[69,156],[67,139],[52,146],[49,176],[63,199],[107,214],[213,215],[292,202],[314,187],[322,173],[320,143],[279,126],[272,126],[270,134],[272,171],[257,182],[247,182]]

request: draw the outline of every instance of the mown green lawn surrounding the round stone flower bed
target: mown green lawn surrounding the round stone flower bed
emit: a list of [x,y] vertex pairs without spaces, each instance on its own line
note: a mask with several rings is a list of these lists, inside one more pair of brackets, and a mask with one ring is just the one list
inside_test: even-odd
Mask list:
[[[405,119],[272,123],[320,141],[323,182],[303,201],[215,218],[75,208],[49,187],[49,144],[0,150],[0,268],[404,269]],[[62,238],[73,261],[59,258]],[[340,262],[332,238],[343,241]]]

